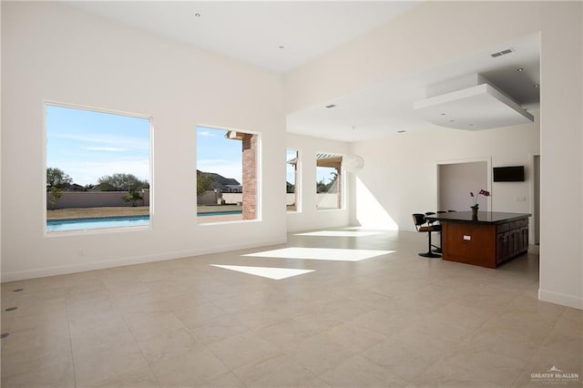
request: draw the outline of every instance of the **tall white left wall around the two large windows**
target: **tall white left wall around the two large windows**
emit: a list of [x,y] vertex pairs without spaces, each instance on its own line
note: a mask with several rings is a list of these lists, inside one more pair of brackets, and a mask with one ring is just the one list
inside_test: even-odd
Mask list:
[[[62,3],[2,8],[3,281],[286,239],[280,76]],[[153,117],[151,230],[45,236],[44,100]],[[261,133],[261,220],[197,224],[199,124]]]

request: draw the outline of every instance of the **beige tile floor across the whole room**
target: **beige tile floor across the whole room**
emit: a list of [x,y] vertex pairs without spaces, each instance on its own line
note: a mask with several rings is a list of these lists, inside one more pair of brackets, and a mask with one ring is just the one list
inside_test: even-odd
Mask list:
[[[2,386],[581,386],[583,311],[537,301],[537,255],[488,270],[421,258],[424,239],[291,234],[283,246],[4,283]],[[292,247],[388,252],[243,256]],[[272,280],[212,264],[312,271]],[[553,367],[571,374],[534,374]]]

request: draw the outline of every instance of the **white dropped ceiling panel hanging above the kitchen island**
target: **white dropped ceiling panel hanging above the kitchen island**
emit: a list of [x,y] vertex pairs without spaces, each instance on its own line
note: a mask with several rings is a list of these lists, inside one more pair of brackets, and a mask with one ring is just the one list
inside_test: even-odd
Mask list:
[[414,109],[440,127],[480,130],[534,121],[516,101],[479,74],[429,87],[427,94],[431,97],[415,102]]

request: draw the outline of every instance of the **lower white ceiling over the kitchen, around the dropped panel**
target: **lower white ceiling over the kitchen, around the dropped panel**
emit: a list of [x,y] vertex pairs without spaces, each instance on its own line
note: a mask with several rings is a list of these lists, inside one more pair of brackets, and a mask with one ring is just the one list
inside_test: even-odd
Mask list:
[[[414,103],[427,97],[427,87],[476,73],[484,75],[519,106],[529,111],[537,110],[539,88],[534,85],[540,84],[538,42],[538,35],[524,36],[463,58],[455,58],[423,73],[380,83],[350,96],[324,101],[319,107],[293,112],[287,117],[288,131],[357,141],[381,138],[399,131],[439,130],[442,127],[427,122],[414,111]],[[512,47],[515,51],[506,56],[490,56],[506,47]],[[517,71],[521,67],[524,71]],[[326,108],[330,104],[336,107]]]

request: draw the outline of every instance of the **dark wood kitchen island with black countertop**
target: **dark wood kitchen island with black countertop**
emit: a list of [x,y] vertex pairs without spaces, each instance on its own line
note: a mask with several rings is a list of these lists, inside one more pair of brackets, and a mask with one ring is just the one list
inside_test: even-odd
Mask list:
[[496,268],[528,250],[527,213],[455,211],[427,216],[442,225],[443,260]]

